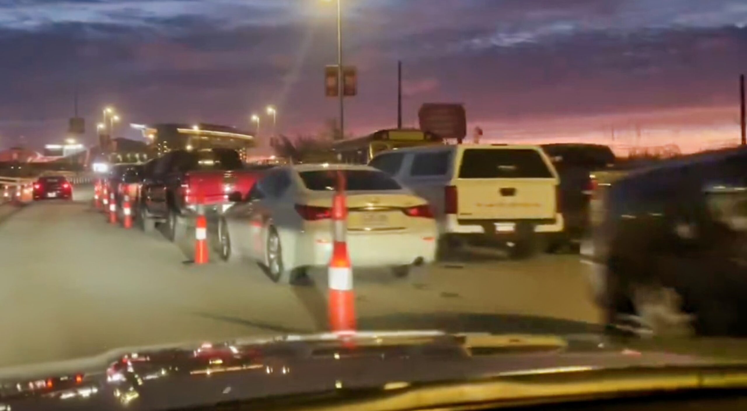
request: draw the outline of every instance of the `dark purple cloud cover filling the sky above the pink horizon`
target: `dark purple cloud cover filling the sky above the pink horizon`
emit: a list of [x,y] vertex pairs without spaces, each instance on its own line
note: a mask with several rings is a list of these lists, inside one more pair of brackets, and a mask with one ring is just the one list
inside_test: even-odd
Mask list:
[[[356,0],[345,58],[356,129],[390,126],[396,61],[406,117],[464,102],[475,120],[734,103],[747,66],[742,0]],[[245,123],[272,102],[288,129],[334,117],[334,7],[302,0],[0,0],[0,135],[57,138],[72,87],[96,121]],[[314,128],[315,129],[315,128]]]

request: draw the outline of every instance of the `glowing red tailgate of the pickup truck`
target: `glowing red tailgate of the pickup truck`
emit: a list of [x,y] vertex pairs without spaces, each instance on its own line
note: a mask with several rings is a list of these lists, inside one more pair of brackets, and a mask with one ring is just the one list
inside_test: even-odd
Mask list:
[[238,191],[246,196],[260,172],[252,170],[234,171],[190,171],[187,173],[187,203],[199,200],[204,204],[226,203],[228,195]]

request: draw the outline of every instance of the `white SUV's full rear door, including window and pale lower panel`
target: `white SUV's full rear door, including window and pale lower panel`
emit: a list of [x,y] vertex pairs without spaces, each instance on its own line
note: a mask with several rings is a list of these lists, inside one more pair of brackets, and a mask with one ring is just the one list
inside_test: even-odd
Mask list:
[[557,212],[557,173],[536,147],[464,149],[457,170],[457,217],[536,220]]

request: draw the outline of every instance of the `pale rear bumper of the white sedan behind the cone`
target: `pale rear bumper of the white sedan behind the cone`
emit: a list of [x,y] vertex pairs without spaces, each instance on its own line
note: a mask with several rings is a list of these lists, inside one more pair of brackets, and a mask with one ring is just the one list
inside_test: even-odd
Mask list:
[[[429,264],[436,259],[436,230],[403,233],[348,233],[347,252],[353,268]],[[329,231],[303,232],[297,238],[294,267],[323,267],[332,256]]]

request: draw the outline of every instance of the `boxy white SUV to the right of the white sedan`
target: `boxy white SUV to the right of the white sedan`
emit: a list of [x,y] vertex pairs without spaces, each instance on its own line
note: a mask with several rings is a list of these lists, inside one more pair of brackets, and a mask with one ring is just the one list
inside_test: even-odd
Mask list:
[[539,146],[427,146],[384,152],[369,165],[431,204],[442,250],[455,244],[506,244],[533,254],[562,232],[560,179]]

